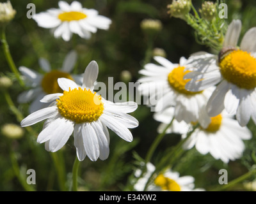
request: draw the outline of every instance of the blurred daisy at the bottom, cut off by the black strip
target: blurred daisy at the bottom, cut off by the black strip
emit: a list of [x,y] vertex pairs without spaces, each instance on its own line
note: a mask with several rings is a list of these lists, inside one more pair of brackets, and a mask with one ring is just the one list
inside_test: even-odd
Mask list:
[[[148,182],[151,174],[155,170],[155,166],[152,163],[147,163],[147,171],[141,177],[136,184],[134,184],[134,189],[136,191],[143,191],[145,185]],[[139,177],[141,170],[135,171],[135,176]],[[172,170],[166,170],[163,173],[159,173],[154,183],[149,184],[147,187],[148,191],[204,191],[204,189],[194,189],[195,179],[191,176],[180,177],[178,172],[173,172]]]

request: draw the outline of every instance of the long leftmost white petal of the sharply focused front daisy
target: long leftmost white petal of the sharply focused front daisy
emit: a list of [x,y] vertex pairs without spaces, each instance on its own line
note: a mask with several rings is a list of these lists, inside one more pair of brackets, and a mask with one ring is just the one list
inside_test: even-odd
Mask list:
[[36,122],[48,119],[49,117],[54,117],[57,113],[58,112],[55,106],[44,108],[28,115],[20,122],[20,125],[22,127],[31,126],[33,124],[36,124]]

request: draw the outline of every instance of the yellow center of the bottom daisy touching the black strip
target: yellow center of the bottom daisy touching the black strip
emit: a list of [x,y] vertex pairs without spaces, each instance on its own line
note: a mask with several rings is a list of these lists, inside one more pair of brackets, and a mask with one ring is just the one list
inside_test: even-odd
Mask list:
[[154,183],[164,191],[180,191],[179,184],[175,180],[164,177],[163,174],[159,174],[154,180]]

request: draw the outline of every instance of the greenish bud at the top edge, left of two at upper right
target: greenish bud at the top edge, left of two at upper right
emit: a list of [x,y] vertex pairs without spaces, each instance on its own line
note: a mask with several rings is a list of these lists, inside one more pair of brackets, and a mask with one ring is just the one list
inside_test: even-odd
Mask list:
[[173,0],[172,4],[167,5],[168,13],[171,17],[185,19],[186,14],[191,10],[191,0]]

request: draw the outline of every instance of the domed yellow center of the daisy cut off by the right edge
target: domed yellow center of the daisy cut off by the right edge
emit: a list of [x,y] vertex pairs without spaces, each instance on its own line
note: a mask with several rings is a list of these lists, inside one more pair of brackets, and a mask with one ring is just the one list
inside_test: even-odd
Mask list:
[[235,50],[220,62],[222,76],[243,89],[256,87],[256,59],[248,52]]

